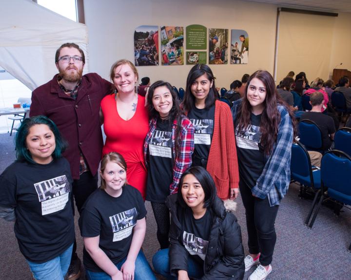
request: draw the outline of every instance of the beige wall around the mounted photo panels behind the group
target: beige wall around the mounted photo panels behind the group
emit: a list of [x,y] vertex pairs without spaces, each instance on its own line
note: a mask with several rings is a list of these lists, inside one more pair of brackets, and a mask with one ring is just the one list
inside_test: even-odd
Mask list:
[[[273,73],[276,6],[237,0],[84,0],[88,26],[90,70],[108,79],[117,59],[134,61],[134,30],[139,25],[244,29],[250,37],[248,65],[213,65],[216,86],[229,88],[244,73]],[[230,36],[229,36],[230,37]],[[185,41],[184,41],[185,45]],[[191,66],[138,67],[139,76],[163,79],[185,87]]]

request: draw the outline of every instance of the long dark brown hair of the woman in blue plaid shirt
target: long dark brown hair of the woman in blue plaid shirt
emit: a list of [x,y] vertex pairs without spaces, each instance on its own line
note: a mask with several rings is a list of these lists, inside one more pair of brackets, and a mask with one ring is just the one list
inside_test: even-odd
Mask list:
[[292,111],[288,106],[285,105],[283,99],[277,94],[274,79],[272,75],[265,70],[258,70],[254,72],[249,78],[248,86],[246,87],[245,96],[242,99],[242,105],[240,107],[240,112],[238,113],[238,129],[243,131],[250,124],[251,117],[251,104],[247,99],[247,91],[250,87],[252,79],[259,79],[266,87],[266,98],[263,102],[264,109],[261,116],[261,144],[264,149],[264,153],[269,155],[273,150],[273,145],[276,142],[278,135],[278,126],[280,123],[280,113],[277,109],[277,105],[283,105],[289,112],[292,119],[292,127],[294,138],[296,136],[296,121],[292,114]]

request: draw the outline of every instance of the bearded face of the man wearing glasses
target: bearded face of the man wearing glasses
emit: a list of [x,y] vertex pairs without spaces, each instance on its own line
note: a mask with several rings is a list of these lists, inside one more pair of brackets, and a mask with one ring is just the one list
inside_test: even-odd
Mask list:
[[[59,53],[59,59],[63,56],[79,56],[78,49],[64,47]],[[73,59],[70,59],[69,63],[63,63],[59,60],[56,63],[56,67],[59,70],[59,74],[63,80],[67,82],[78,82],[82,76],[84,63],[82,61],[75,62]]]

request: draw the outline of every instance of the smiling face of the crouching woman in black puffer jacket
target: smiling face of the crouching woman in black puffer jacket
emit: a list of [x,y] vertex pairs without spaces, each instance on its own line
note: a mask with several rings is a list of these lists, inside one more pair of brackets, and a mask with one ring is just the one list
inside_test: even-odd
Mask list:
[[188,174],[184,176],[181,194],[186,205],[192,208],[193,211],[204,208],[205,192],[194,175]]

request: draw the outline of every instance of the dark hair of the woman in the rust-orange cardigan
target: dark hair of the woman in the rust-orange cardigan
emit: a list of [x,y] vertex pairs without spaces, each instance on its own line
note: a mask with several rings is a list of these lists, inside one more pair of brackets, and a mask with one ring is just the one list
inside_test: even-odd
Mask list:
[[209,108],[215,104],[215,100],[219,99],[219,94],[217,89],[215,88],[215,76],[210,67],[206,64],[196,64],[190,70],[187,78],[187,85],[185,89],[184,99],[182,102],[183,109],[189,112],[191,109],[195,107],[195,96],[192,93],[191,87],[194,84],[195,80],[198,77],[206,74],[207,79],[212,82],[212,88],[210,88],[209,94],[205,100],[205,108]]

